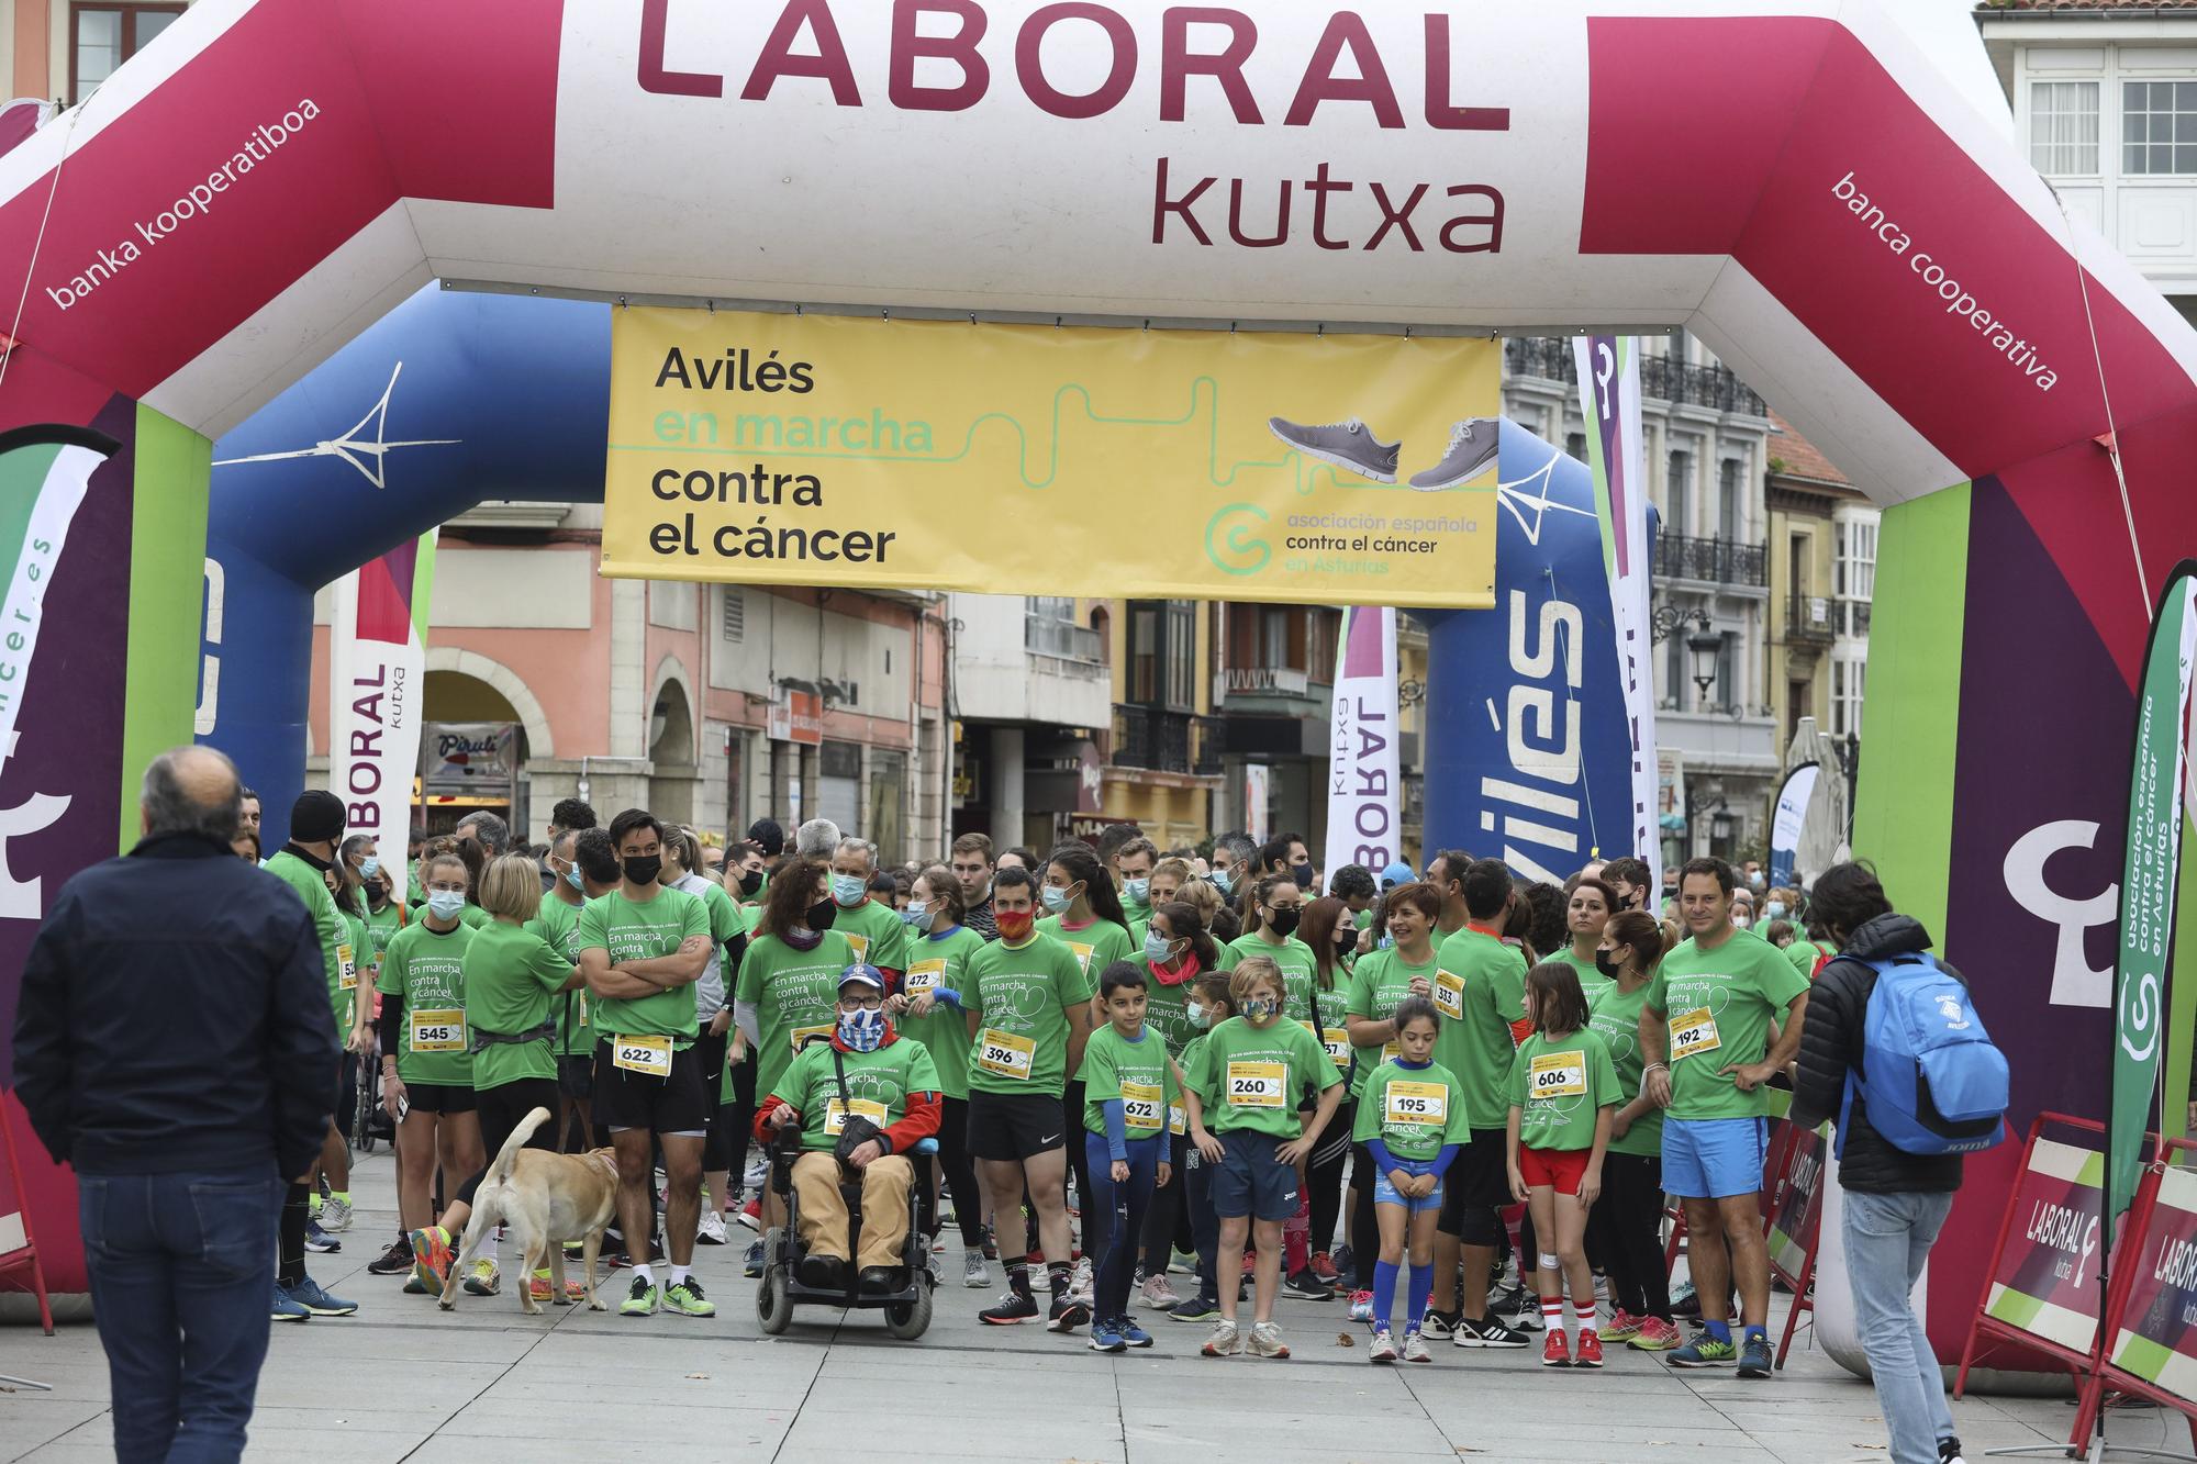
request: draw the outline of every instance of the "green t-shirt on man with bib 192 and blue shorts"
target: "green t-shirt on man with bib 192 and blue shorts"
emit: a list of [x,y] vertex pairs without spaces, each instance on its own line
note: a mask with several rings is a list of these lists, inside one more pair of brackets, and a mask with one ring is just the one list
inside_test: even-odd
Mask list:
[[1661,1011],[1670,1033],[1672,1119],[1760,1119],[1769,1084],[1740,1093],[1720,1068],[1762,1062],[1771,1020],[1808,994],[1808,978],[1775,945],[1733,930],[1716,950],[1681,941],[1648,983],[1648,1011]]

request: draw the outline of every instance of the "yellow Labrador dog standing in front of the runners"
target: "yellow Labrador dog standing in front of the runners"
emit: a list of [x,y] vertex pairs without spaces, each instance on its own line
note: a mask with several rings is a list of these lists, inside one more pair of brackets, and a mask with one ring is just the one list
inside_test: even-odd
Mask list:
[[497,1224],[510,1229],[518,1246],[518,1308],[529,1317],[543,1308],[534,1299],[534,1271],[549,1266],[549,1297],[558,1306],[565,1299],[565,1246],[567,1240],[582,1242],[580,1266],[587,1277],[587,1306],[606,1310],[595,1295],[595,1255],[602,1251],[602,1227],[617,1216],[617,1156],[613,1150],[589,1150],[587,1154],[549,1154],[525,1147],[534,1130],[549,1121],[547,1108],[536,1108],[512,1136],[497,1150],[497,1158],[481,1176],[481,1187],[472,1196],[472,1218],[466,1222],[466,1249],[450,1266],[450,1279],[442,1288],[442,1310],[457,1304],[459,1277],[481,1249],[481,1235],[494,1235]]

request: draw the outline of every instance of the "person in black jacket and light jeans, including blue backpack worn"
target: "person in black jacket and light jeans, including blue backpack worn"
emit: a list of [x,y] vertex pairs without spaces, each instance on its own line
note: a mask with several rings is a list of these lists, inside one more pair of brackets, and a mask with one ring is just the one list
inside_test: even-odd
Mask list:
[[1892,910],[1865,864],[1815,881],[1810,923],[1837,945],[1808,996],[1793,1123],[1834,1119],[1845,1271],[1894,1464],[1960,1464],[1938,1354],[1909,1293],[1960,1189],[1962,1156],[1997,1143],[2006,1060],[1969,987]]

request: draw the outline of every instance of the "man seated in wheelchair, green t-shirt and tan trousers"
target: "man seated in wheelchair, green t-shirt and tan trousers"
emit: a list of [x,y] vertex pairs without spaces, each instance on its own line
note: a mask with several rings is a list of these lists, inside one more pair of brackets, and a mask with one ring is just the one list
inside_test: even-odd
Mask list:
[[[811,1038],[756,1114],[756,1136],[771,1143],[800,1128],[793,1161],[795,1277],[815,1290],[846,1288],[846,1268],[870,1295],[907,1286],[910,1152],[938,1132],[938,1068],[921,1042],[885,1018],[885,978],[874,965],[839,976],[839,1022],[830,1040]],[[918,1154],[916,1163],[927,1163]],[[850,1255],[841,1183],[859,1176],[861,1255]]]

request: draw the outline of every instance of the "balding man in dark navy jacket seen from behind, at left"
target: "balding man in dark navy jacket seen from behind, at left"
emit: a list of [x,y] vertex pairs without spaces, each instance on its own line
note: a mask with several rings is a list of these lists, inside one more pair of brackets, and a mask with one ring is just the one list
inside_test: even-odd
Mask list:
[[239,789],[211,747],[154,758],[145,838],[62,886],[22,969],[15,1097],[77,1169],[121,1460],[244,1453],[283,1180],[327,1132],[321,939],[228,851]]

